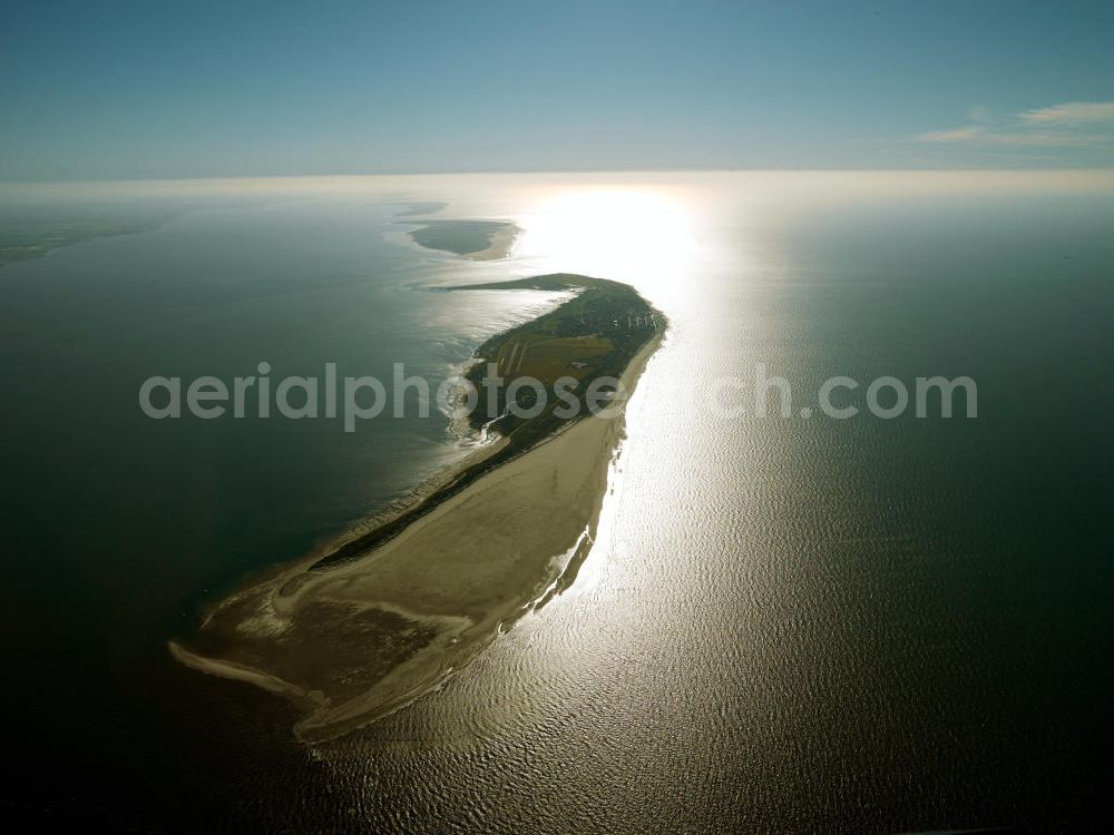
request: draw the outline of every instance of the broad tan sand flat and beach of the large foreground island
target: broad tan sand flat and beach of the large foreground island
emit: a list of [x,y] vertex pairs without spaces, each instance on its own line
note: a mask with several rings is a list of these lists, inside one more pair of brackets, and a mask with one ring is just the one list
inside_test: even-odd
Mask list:
[[[624,373],[628,392],[657,334]],[[204,672],[281,694],[319,741],[440,685],[587,556],[624,415],[586,416],[446,499],[378,549],[328,570],[314,554],[215,605],[170,644]]]

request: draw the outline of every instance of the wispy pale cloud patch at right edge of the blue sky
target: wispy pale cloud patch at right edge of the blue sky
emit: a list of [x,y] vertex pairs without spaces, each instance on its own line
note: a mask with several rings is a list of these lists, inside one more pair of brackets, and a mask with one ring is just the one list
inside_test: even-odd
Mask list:
[[950,145],[1085,148],[1114,144],[1114,101],[1068,101],[1034,108],[994,122],[973,108],[979,124],[920,134],[917,141]]

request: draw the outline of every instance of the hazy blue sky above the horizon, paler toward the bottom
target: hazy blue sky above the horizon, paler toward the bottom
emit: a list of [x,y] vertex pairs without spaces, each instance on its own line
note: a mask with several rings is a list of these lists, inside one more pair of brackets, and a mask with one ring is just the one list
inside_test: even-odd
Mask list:
[[1114,166],[1114,2],[51,2],[0,179]]

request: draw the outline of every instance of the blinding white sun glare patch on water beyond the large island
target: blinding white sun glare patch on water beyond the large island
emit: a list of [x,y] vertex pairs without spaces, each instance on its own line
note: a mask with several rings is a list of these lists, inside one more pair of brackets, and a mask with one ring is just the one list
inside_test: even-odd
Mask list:
[[531,267],[614,278],[655,297],[683,286],[696,250],[691,210],[666,189],[563,189],[521,224],[516,255]]

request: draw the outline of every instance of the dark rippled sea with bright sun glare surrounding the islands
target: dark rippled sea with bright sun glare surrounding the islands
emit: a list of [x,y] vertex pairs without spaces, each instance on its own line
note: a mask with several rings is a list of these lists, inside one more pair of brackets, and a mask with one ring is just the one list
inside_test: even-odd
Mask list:
[[[501,264],[423,253],[384,203],[402,198],[526,234]],[[206,199],[0,271],[4,649],[26,685],[6,701],[30,719],[18,755],[43,764],[14,805],[297,832],[1102,814],[1108,187],[524,176]],[[138,383],[260,360],[436,376],[529,311],[423,285],[550,269],[629,281],[672,323],[575,586],[440,691],[312,749],[277,700],[170,664],[163,640],[206,593],[461,450],[443,420],[154,422]],[[794,414],[832,375],[965,374],[978,418],[706,406],[756,363],[792,382]]]

